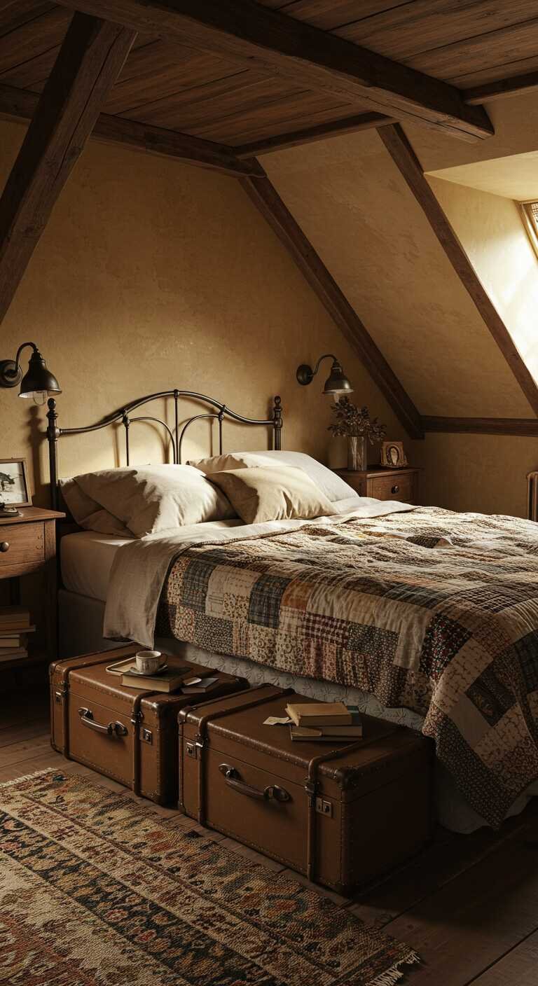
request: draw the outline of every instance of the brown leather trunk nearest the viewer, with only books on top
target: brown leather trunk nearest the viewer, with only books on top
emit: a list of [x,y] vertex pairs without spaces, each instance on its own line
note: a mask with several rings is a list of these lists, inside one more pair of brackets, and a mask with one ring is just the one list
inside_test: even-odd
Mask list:
[[340,893],[417,852],[431,828],[433,744],[363,717],[362,740],[292,741],[272,685],[184,708],[180,808]]

